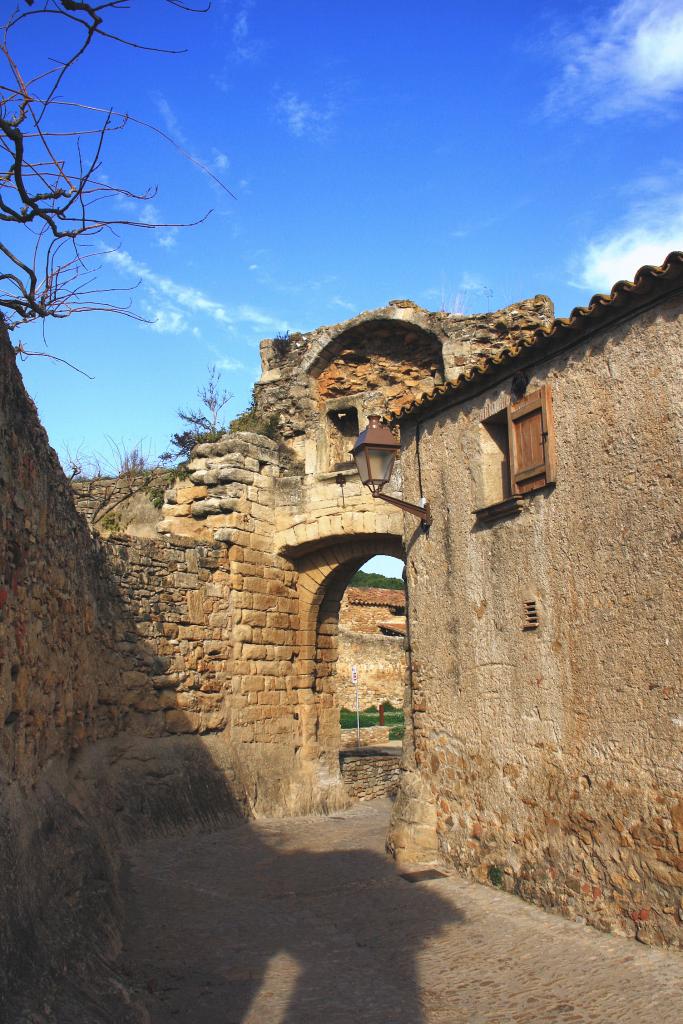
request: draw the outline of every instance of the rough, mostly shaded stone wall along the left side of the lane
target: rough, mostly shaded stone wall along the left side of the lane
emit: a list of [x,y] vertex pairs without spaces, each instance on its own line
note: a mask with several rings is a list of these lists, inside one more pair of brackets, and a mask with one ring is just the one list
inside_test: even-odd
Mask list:
[[[215,580],[212,553],[207,549],[194,568],[193,557],[182,543],[160,551],[154,542],[132,539],[108,551],[90,535],[3,333],[3,1020],[141,1019],[113,966],[122,847],[135,835],[224,820],[247,806],[236,796],[239,782],[216,735],[169,734],[170,694],[177,690],[175,708],[182,693],[203,691],[205,679],[209,688],[217,676],[224,685],[222,667],[214,665],[212,676],[209,641],[198,637],[193,650],[186,646],[182,666],[159,646],[161,622],[189,633],[188,595],[209,585],[210,575]],[[204,598],[202,613],[213,608],[213,598]],[[216,725],[214,711],[182,706],[176,714]]]

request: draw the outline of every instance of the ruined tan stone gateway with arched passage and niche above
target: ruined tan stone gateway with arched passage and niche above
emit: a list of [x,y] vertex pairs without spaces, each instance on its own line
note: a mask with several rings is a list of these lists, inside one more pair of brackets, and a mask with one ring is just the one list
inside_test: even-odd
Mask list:
[[[200,445],[189,478],[167,495],[161,531],[216,551],[208,604],[196,595],[188,607],[213,629],[205,649],[225,680],[219,699],[198,686],[173,721],[176,731],[186,723],[220,733],[256,810],[344,799],[332,685],[339,603],[368,558],[402,557],[415,529],[360,485],[350,457],[357,433],[370,415],[388,417],[447,381],[503,333],[537,328],[544,303],[464,317],[396,301],[262,342],[256,418],[276,419],[276,440],[239,433]],[[391,487],[419,497],[402,495],[400,463]]]

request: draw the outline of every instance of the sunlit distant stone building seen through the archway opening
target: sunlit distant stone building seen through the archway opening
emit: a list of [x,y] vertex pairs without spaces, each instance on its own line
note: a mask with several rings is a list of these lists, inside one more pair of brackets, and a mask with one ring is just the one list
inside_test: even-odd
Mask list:
[[335,689],[340,708],[355,708],[351,670],[358,673],[360,708],[389,701],[403,707],[405,693],[405,594],[381,587],[349,587],[339,611]]

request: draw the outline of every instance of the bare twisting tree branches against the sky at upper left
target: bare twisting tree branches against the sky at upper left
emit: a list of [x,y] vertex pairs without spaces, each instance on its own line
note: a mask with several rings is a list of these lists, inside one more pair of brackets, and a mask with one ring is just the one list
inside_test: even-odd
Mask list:
[[[194,13],[209,9],[184,0],[161,2]],[[232,196],[208,167],[157,126],[112,108],[62,98],[58,92],[70,72],[95,43],[114,42],[159,53],[181,52],[111,31],[105,25],[108,16],[129,7],[126,0],[19,0],[0,26],[0,61],[4,59],[5,63],[5,84],[0,85],[0,221],[19,229],[11,238],[5,232],[0,243],[0,316],[10,330],[32,321],[61,318],[93,309],[143,319],[131,311],[130,303],[103,298],[103,291],[118,289],[90,287],[96,286],[97,258],[119,246],[116,228],[188,227],[209,216],[211,211],[183,222],[116,216],[116,205],[122,200],[145,204],[155,198],[157,188],[135,191],[106,179],[102,154],[113,133],[131,124],[156,133]],[[24,26],[37,31],[42,23],[35,19],[47,15],[66,26],[69,38],[73,36],[71,51],[55,60],[53,67],[29,76],[15,56],[14,38]],[[76,114],[81,124],[65,129],[65,112]],[[95,238],[108,234],[112,237],[110,245],[105,238],[104,245],[92,245]],[[25,240],[31,236],[33,252],[29,254]],[[16,351],[24,356],[46,354],[29,353],[22,346],[16,346]]]

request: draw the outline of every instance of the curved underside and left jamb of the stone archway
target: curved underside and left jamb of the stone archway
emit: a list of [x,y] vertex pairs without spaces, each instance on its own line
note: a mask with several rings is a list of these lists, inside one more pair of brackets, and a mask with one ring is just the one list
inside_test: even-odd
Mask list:
[[333,677],[338,655],[339,606],[360,566],[374,555],[404,557],[400,537],[392,534],[339,538],[297,559],[299,632],[297,682],[301,702],[301,756],[336,774],[340,746],[339,711]]

